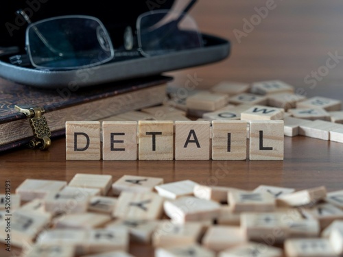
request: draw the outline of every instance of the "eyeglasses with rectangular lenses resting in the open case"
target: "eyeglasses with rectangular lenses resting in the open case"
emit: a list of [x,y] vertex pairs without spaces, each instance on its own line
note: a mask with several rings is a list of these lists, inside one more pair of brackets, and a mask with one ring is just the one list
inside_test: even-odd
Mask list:
[[[150,57],[202,47],[198,26],[186,13],[195,1],[182,12],[159,10],[141,14],[135,34],[130,27],[126,29],[125,49],[132,53],[130,50],[137,45],[137,56]],[[97,66],[128,54],[115,51],[106,27],[93,16],[57,16],[31,23],[25,12],[21,14],[29,23],[25,35],[27,54],[10,57],[12,64],[71,70]]]

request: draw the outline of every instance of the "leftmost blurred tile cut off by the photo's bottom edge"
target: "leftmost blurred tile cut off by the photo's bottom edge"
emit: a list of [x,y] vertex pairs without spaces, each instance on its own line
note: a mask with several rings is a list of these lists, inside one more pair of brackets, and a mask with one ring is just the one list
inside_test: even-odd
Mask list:
[[71,245],[33,245],[22,257],[74,257]]

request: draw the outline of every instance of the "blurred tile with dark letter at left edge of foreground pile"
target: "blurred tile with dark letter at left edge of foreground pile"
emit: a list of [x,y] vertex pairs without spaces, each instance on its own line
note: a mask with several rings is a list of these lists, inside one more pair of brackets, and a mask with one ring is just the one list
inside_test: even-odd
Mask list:
[[[6,238],[10,237],[12,246],[22,248],[32,245],[36,236],[49,226],[50,221],[51,215],[49,214],[16,210],[10,216],[5,216],[5,221],[0,223],[0,241],[7,243]],[[8,223],[10,232],[6,232]]]

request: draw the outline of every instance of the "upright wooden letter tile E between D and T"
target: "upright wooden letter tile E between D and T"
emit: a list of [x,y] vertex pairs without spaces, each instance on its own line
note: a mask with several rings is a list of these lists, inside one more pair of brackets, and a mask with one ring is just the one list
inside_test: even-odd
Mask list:
[[137,121],[103,121],[102,138],[103,160],[137,160]]

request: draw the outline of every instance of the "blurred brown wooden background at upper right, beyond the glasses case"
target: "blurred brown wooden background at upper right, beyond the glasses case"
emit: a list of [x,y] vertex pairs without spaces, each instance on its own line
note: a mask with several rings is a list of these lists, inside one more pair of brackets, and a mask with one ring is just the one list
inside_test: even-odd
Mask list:
[[340,0],[200,0],[191,16],[202,32],[230,40],[231,53],[222,62],[171,73],[173,83],[185,85],[195,73],[203,79],[199,88],[223,79],[281,79],[298,93],[332,97],[335,90],[342,99],[342,11]]

